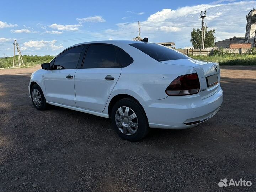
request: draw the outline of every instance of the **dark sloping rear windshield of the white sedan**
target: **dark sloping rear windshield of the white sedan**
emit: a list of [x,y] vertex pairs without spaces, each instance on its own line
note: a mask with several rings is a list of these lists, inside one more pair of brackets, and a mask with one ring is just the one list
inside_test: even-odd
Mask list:
[[130,44],[130,46],[141,50],[159,62],[167,60],[188,59],[188,57],[182,53],[155,43],[133,43]]

